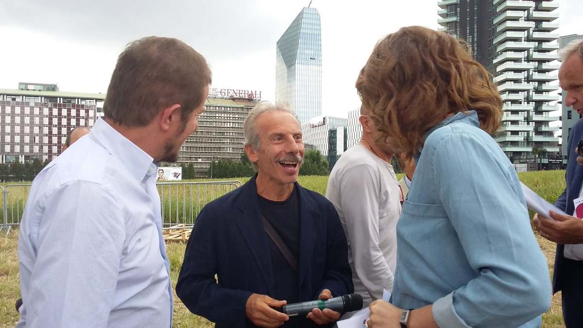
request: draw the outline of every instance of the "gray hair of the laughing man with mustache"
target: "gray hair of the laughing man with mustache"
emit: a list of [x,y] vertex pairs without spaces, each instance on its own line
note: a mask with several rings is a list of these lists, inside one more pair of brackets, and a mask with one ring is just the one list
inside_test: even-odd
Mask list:
[[[243,123],[243,145],[250,146],[254,151],[259,150],[259,145],[261,145],[261,138],[259,138],[259,131],[257,131],[257,125],[255,121],[257,118],[265,113],[273,113],[275,111],[284,111],[289,113],[291,116],[296,118],[297,124],[301,126],[300,120],[298,120],[296,113],[290,108],[289,104],[286,102],[275,102],[272,104],[268,100],[262,100],[259,102],[247,115],[245,118],[245,123]],[[255,172],[257,172],[257,163],[251,162],[251,166]]]

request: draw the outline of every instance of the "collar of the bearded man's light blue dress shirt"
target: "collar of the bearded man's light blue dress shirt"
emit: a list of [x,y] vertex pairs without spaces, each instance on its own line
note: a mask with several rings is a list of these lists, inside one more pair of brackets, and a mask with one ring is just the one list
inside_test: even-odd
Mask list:
[[146,176],[156,174],[157,167],[152,156],[107,124],[103,118],[97,119],[89,135],[111,155],[119,158],[135,179],[142,181]]

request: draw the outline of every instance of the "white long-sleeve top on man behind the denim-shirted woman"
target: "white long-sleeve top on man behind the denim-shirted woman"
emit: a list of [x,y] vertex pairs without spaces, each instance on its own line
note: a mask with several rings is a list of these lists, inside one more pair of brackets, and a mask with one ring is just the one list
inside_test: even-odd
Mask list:
[[348,149],[332,169],[326,198],[334,204],[348,240],[354,292],[364,306],[392,291],[396,223],[401,190],[391,164],[361,144]]

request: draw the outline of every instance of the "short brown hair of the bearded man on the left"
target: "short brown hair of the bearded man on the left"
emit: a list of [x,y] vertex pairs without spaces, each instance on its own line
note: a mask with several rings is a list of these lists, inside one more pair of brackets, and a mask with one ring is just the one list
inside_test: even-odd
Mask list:
[[180,104],[182,122],[205,100],[211,79],[206,60],[188,44],[150,36],[128,44],[111,75],[103,113],[130,127],[150,123],[160,110]]

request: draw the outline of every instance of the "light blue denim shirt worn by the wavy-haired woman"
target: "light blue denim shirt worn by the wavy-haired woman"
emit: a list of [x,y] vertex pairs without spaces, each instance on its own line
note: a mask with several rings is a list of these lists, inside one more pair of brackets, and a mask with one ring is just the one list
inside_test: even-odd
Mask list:
[[420,151],[397,224],[394,305],[433,303],[440,327],[539,327],[549,271],[500,146],[472,110],[433,127]]

